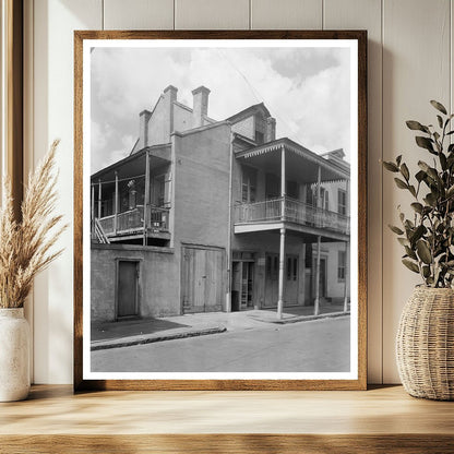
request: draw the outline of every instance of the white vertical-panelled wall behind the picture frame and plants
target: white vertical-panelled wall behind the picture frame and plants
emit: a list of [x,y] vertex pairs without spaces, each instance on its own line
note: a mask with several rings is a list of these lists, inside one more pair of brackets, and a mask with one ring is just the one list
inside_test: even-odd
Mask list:
[[[370,383],[398,382],[394,335],[416,284],[385,228],[405,194],[379,159],[420,157],[404,121],[432,121],[430,99],[453,110],[454,0],[26,0],[26,165],[61,138],[60,204],[72,218],[73,31],[300,28],[369,32],[369,347]],[[63,256],[36,280],[27,313],[34,381],[72,381],[72,230]],[[33,310],[32,310],[33,309]]]

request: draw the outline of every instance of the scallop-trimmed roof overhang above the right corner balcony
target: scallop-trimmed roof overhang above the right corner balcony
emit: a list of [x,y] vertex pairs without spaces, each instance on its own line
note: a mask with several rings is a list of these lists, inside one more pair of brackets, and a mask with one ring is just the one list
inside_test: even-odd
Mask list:
[[348,163],[340,166],[330,162],[288,138],[238,151],[235,156],[244,164],[264,169],[270,174],[280,175],[280,151],[283,147],[288,152],[286,153],[286,178],[288,180],[315,183],[319,166],[323,182],[350,179]]

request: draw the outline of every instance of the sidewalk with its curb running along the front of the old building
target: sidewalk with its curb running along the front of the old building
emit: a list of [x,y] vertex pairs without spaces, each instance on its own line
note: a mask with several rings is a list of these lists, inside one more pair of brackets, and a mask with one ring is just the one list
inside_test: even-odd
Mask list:
[[94,323],[91,349],[119,348],[184,337],[203,336],[235,331],[253,330],[349,315],[342,304],[324,303],[320,314],[313,315],[313,307],[285,308],[280,320],[276,309],[249,310],[242,312],[206,312],[175,315],[160,319],[134,319],[121,322]]

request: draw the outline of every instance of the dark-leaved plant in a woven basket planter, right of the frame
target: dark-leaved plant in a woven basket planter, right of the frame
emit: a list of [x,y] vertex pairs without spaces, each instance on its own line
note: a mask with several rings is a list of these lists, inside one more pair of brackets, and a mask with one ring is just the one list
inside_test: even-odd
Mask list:
[[437,126],[407,121],[417,131],[416,144],[427,158],[411,176],[402,155],[384,162],[396,174],[397,188],[411,194],[411,215],[399,211],[401,226],[391,226],[404,248],[403,264],[420,275],[406,303],[397,331],[396,358],[405,390],[413,396],[454,399],[454,134],[445,107],[438,110]]

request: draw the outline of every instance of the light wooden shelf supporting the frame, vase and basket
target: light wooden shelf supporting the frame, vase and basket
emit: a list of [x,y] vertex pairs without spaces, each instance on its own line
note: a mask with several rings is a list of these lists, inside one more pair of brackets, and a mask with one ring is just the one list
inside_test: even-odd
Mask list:
[[0,404],[0,453],[453,453],[454,403],[369,391],[93,392]]

